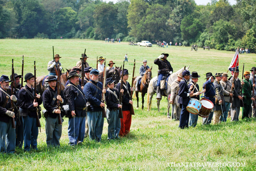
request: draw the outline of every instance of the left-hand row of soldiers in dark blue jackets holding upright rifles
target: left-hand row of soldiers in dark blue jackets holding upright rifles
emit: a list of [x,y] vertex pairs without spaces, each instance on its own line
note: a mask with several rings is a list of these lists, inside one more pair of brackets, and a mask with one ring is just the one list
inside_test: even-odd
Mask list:
[[[56,59],[60,59],[59,55],[55,55]],[[50,61],[51,62],[51,61]],[[84,68],[85,78],[84,86],[79,85],[81,70],[73,67],[67,77],[68,84],[64,91],[57,94],[57,78],[56,78],[56,60],[55,63],[48,63],[51,68],[49,77],[46,82],[49,83],[48,88],[42,96],[34,94],[35,78],[32,73],[27,73],[24,77],[26,85],[20,87],[20,75],[14,74],[16,80],[16,91],[11,95],[10,79],[6,75],[0,78],[0,152],[13,153],[15,146],[22,148],[24,140],[24,150],[37,150],[38,127],[36,125],[36,108],[43,103],[46,144],[47,146],[60,146],[60,137],[62,133],[62,124],[59,124],[58,115],[68,117],[68,138],[69,145],[76,145],[83,142],[84,137],[89,135],[90,140],[100,142],[104,118],[102,117],[102,108],[105,103],[102,100],[102,93],[106,96],[107,104],[107,121],[108,121],[108,139],[117,139],[126,136],[130,132],[132,116],[130,115],[131,88],[129,82],[128,70],[124,69],[123,88],[120,90],[120,82],[114,88],[114,80],[106,79],[106,87],[98,81],[99,71],[92,67]],[[109,69],[113,68],[113,62],[109,64]],[[53,67],[52,67],[53,65]],[[55,71],[55,72],[54,72]],[[121,72],[122,74],[122,72]],[[11,76],[12,77],[12,76]],[[104,86],[105,87],[105,86]],[[119,93],[122,93],[122,104],[119,102]],[[37,98],[37,102],[34,100]],[[8,98],[7,98],[8,97]],[[7,100],[6,100],[7,99]],[[11,100],[15,104],[16,109],[10,110]],[[60,101],[61,108],[56,108],[57,100]],[[6,101],[6,102],[5,102]],[[68,105],[69,111],[65,110]],[[119,109],[122,108],[123,118],[119,118]],[[22,115],[19,112],[22,109]],[[26,112],[24,112],[26,111]],[[40,114],[41,115],[41,114]],[[12,128],[11,120],[15,119],[16,129]],[[39,117],[40,118],[40,117]],[[87,123],[87,124],[86,124]],[[87,125],[87,127],[85,126]],[[17,131],[15,138],[15,131]],[[16,144],[15,144],[16,143]]]

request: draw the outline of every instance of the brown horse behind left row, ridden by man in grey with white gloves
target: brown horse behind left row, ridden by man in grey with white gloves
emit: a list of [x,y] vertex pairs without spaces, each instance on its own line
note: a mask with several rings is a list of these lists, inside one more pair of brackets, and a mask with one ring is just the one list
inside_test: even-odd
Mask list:
[[[65,89],[65,84],[67,82],[67,76],[68,76],[69,72],[70,72],[70,70],[67,70],[67,72],[62,73],[62,75],[60,76],[60,84],[61,84],[62,91]],[[36,90],[38,90],[40,95],[42,95],[47,88],[44,85],[42,85],[44,77],[46,77],[46,75],[36,78]]]

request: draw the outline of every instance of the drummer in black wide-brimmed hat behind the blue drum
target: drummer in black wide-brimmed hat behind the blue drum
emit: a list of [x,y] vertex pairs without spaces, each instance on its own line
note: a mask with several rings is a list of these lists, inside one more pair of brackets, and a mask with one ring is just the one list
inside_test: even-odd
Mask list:
[[[188,88],[192,85],[193,89],[192,91],[194,92],[192,96],[190,96],[191,98],[194,98],[198,101],[200,101],[200,94],[205,92],[205,89],[202,92],[199,92],[199,85],[197,84],[198,82],[198,78],[201,77],[200,75],[197,74],[197,72],[191,72],[190,78],[192,79],[192,81],[188,84]],[[193,126],[195,127],[197,124],[197,120],[198,120],[198,115],[189,114],[189,123],[188,126]]]

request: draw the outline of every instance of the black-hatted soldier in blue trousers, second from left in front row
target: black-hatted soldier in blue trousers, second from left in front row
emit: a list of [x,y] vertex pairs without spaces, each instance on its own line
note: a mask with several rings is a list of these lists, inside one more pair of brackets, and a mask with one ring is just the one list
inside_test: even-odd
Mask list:
[[23,121],[23,137],[24,150],[37,150],[38,128],[36,127],[36,107],[42,104],[42,98],[36,91],[37,102],[34,100],[35,91],[33,85],[35,83],[34,75],[27,73],[24,77],[26,85],[20,90],[19,98],[21,100],[20,108],[26,110],[22,116]]

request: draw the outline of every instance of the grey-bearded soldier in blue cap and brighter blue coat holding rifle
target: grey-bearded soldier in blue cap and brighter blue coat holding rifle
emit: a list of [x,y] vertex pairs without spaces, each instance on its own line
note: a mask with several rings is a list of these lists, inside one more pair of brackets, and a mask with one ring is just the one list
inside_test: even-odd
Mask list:
[[90,107],[87,109],[89,137],[91,140],[100,142],[104,118],[102,117],[102,108],[105,103],[101,101],[102,93],[108,96],[106,89],[102,90],[102,83],[99,82],[99,71],[92,69],[90,72],[90,80],[84,85],[84,94],[88,99]]

